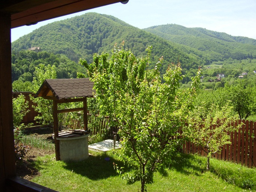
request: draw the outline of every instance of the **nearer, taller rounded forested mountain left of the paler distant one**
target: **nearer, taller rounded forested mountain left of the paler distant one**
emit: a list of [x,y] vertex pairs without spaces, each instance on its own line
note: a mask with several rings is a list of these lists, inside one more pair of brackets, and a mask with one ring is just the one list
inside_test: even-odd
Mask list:
[[[65,54],[72,61],[84,58],[92,62],[94,53],[110,53],[115,43],[125,41],[124,48],[131,49],[135,56],[144,55],[148,45],[153,46],[152,62],[163,56],[166,69],[169,62],[179,61],[182,68],[197,69],[202,64],[197,50],[166,41],[152,33],[138,29],[113,16],[88,13],[63,21],[53,22],[34,30],[12,43],[12,50],[29,49],[37,46],[54,54]],[[161,54],[160,54],[161,53]],[[154,67],[154,66],[152,66]]]

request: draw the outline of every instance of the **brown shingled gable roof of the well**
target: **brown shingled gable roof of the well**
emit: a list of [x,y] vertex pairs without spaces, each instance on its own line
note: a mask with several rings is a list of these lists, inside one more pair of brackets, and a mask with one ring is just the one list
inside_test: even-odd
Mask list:
[[[74,97],[93,97],[94,83],[89,78],[46,79],[38,89],[36,97],[53,97],[62,100]],[[55,98],[54,98],[55,97]]]

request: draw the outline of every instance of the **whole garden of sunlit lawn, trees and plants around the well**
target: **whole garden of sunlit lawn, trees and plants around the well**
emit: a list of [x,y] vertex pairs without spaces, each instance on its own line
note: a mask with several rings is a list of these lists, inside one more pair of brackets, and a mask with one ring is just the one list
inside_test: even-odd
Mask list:
[[[196,105],[201,69],[192,78],[190,88],[180,89],[180,63],[170,63],[162,76],[159,71],[163,57],[154,69],[148,69],[151,49],[146,49],[146,57],[136,58],[123,49],[123,44],[115,45],[110,57],[107,53],[94,54],[90,65],[80,60],[95,89],[96,100],[89,102],[88,127],[94,132],[99,125],[96,119],[108,118],[106,129],[91,135],[89,143],[106,139],[111,132],[108,129],[116,127],[121,149],[90,151],[90,157],[82,162],[56,161],[51,128],[44,130],[50,130],[48,133],[29,132],[17,124],[17,167],[30,172],[23,177],[58,191],[255,191],[255,168],[212,158],[231,144],[230,133],[243,126],[233,123],[241,114],[235,112],[231,101],[222,106],[204,102]],[[43,73],[54,77],[54,70],[48,68],[38,70],[40,79],[46,79]],[[42,81],[36,82],[38,88]],[[38,120],[51,124],[50,101],[46,104],[36,99],[35,108],[41,114]],[[14,109],[17,106],[26,109],[14,100]],[[15,111],[19,114],[18,109]],[[58,118],[59,122],[63,118],[83,119],[75,113]],[[250,138],[253,142],[254,134]],[[201,146],[206,157],[182,153],[186,141]],[[253,150],[254,143],[250,144]]]

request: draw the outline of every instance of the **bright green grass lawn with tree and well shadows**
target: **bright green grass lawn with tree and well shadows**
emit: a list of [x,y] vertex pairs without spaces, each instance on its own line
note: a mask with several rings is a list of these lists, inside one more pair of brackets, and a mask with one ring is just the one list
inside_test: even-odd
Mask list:
[[[105,158],[110,157],[110,161]],[[93,152],[77,163],[56,162],[54,155],[38,157],[35,167],[41,172],[32,181],[51,189],[65,191],[123,192],[139,191],[140,182],[127,185],[115,172],[118,155]],[[206,159],[198,155],[177,154],[162,174],[154,174],[148,192],[166,191],[256,191],[256,170],[234,163],[211,159],[211,170],[206,172]]]

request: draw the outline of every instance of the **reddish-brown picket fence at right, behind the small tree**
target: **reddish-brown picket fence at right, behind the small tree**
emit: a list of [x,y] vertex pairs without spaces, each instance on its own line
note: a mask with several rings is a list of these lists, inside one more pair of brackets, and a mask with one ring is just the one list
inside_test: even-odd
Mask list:
[[[242,120],[243,125],[234,133],[230,133],[230,142],[213,155],[216,159],[241,163],[247,167],[256,167],[256,122]],[[241,120],[238,121],[241,124]],[[201,154],[207,156],[205,151],[194,143],[186,142],[183,145],[184,153]]]

